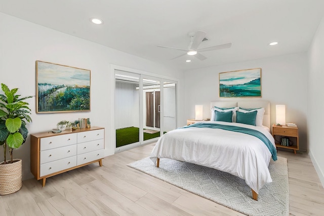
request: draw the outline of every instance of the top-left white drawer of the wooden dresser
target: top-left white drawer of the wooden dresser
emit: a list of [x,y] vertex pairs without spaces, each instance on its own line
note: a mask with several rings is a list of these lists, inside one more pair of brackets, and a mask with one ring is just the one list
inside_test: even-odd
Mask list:
[[45,137],[41,139],[41,151],[76,144],[76,134]]

